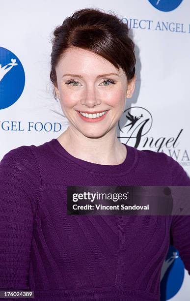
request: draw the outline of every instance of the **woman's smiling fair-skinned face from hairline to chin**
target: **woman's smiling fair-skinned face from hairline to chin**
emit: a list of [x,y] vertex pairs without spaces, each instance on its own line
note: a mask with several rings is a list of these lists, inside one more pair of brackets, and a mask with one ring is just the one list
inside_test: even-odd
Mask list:
[[[55,71],[55,91],[60,94],[61,108],[72,130],[98,138],[116,127],[127,93],[132,94],[135,88],[135,77],[128,85],[122,68],[117,70],[108,60],[77,47],[67,51]],[[86,118],[79,113],[103,111],[107,113],[99,118]]]

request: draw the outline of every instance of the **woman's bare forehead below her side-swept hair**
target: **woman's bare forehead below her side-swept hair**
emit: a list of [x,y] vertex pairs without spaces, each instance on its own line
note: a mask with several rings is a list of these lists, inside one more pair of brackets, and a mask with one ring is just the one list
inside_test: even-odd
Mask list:
[[65,73],[105,73],[116,72],[120,74],[121,68],[117,70],[109,60],[94,54],[93,52],[78,47],[71,47],[67,50],[64,56],[59,60],[56,66],[57,72]]

